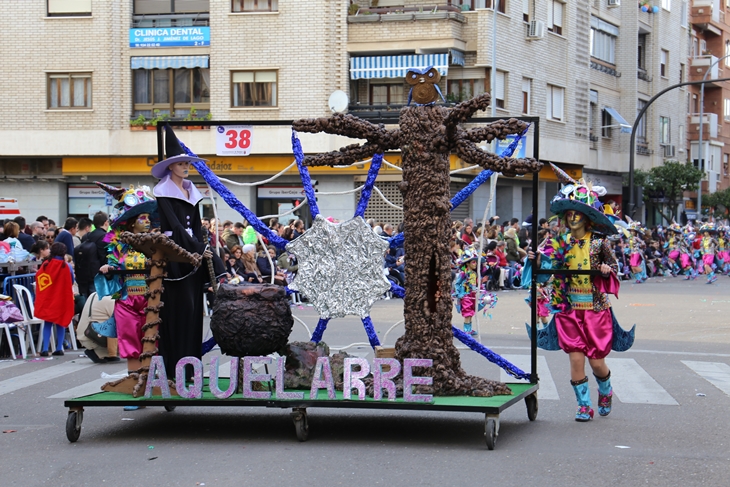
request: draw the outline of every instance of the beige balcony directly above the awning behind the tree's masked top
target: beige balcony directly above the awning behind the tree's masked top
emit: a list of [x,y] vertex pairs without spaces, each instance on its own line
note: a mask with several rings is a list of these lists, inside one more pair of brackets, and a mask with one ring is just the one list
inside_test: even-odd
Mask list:
[[360,8],[347,22],[350,53],[466,49],[466,18],[453,5]]

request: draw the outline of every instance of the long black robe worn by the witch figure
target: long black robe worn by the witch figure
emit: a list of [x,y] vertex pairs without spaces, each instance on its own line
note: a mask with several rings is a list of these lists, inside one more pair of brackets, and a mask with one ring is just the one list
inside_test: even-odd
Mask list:
[[[207,244],[202,238],[199,203],[199,199],[192,204],[182,197],[157,196],[162,232],[188,252],[202,255]],[[225,266],[215,254],[213,264],[216,276],[225,274]],[[159,348],[167,373],[174,374],[181,358],[201,358],[203,294],[210,277],[205,261],[195,272],[192,265],[178,262],[168,262],[166,270],[167,279],[163,283],[165,290],[162,293],[165,305],[160,310],[162,323],[159,328]],[[189,371],[186,375],[189,375]]]

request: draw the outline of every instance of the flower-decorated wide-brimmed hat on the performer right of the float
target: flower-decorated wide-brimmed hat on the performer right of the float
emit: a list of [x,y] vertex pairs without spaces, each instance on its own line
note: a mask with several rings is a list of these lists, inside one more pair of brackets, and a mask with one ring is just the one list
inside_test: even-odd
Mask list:
[[550,211],[561,217],[568,210],[579,211],[588,217],[594,231],[605,235],[618,233],[614,224],[605,215],[603,203],[598,199],[599,196],[606,194],[606,189],[586,183],[582,179],[576,181],[556,165],[552,163],[550,165],[562,183],[560,191],[550,202]]

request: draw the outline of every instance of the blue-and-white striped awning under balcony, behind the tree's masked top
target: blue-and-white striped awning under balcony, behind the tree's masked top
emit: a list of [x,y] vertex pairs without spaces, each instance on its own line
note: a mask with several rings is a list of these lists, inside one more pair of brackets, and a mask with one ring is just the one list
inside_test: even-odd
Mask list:
[[350,58],[350,79],[404,78],[408,69],[427,66],[433,66],[441,76],[446,76],[449,54],[353,57]]

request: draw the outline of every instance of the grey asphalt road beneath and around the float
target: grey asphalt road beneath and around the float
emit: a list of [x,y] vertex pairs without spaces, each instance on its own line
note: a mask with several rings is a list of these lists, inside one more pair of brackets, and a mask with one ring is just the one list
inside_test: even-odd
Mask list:
[[[485,345],[529,367],[526,295],[500,293],[480,329]],[[630,351],[609,356],[617,396],[611,415],[576,423],[567,357],[539,351],[537,420],[528,421],[523,404],[505,410],[494,451],[485,445],[482,414],[319,408],[309,410],[305,443],[288,410],[87,408],[72,444],[64,397],[124,365],[93,365],[82,352],[3,361],[0,430],[13,432],[0,434],[0,486],[728,485],[730,279],[625,282],[613,302],[625,328],[637,324],[637,338]],[[385,344],[402,333],[399,325],[385,337],[402,307],[382,300],[372,310]],[[314,328],[311,307],[293,309]],[[308,339],[304,327],[295,325],[291,339]],[[357,318],[330,322],[324,341],[355,343],[348,352],[371,357]],[[500,378],[471,351],[462,352],[462,364]],[[591,388],[595,401],[593,381]]]

